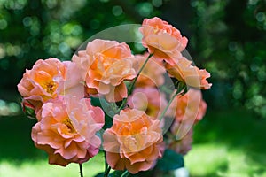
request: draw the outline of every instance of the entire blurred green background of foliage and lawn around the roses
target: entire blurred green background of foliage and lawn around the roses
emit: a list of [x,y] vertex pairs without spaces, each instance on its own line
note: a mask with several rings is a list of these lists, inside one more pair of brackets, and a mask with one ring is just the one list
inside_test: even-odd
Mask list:
[[[0,0],[0,176],[78,176],[48,165],[30,138],[35,120],[16,85],[39,58],[70,60],[91,35],[158,16],[189,39],[213,87],[185,157],[191,176],[266,176],[265,0]],[[85,176],[104,170],[101,154]]]

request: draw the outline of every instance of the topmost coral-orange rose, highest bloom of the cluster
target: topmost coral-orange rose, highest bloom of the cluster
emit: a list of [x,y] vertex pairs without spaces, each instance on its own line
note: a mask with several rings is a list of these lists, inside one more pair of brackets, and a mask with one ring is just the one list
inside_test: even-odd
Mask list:
[[143,35],[143,46],[148,48],[155,58],[164,59],[170,65],[182,56],[181,51],[188,42],[176,27],[158,17],[145,19],[139,31]]

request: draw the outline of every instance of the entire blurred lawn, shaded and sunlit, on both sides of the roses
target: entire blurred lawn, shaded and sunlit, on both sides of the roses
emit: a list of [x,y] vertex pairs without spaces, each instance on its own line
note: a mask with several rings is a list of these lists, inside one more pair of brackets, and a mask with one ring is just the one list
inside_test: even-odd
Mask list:
[[[32,119],[0,117],[0,176],[79,176],[76,164],[48,165],[30,138]],[[185,156],[191,177],[266,177],[266,120],[245,110],[211,111],[194,128]],[[85,177],[103,172],[103,154],[83,165]]]

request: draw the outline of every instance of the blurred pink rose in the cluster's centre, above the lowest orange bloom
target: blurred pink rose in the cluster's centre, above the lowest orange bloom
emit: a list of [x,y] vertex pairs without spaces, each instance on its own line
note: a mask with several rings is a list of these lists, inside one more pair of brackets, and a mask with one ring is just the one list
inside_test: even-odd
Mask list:
[[128,104],[130,108],[144,111],[153,119],[157,119],[168,103],[159,89],[146,87],[134,89],[128,98]]

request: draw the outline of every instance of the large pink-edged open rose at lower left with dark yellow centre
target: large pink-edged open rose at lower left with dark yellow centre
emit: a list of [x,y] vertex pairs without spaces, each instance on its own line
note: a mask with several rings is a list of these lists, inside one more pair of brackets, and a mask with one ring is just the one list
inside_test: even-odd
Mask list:
[[89,98],[51,99],[43,104],[41,116],[31,136],[35,146],[48,153],[50,164],[81,164],[98,153],[101,141],[96,133],[104,125],[104,112]]

